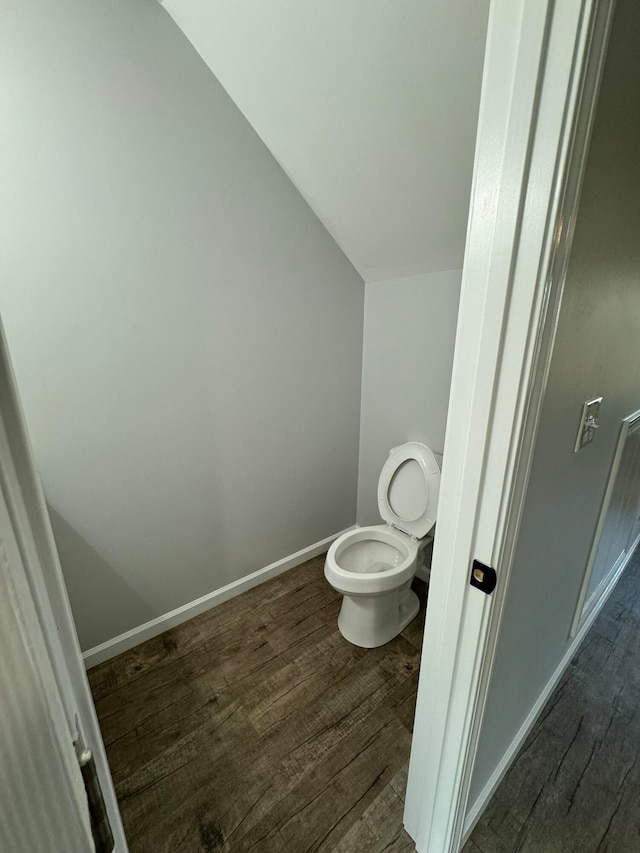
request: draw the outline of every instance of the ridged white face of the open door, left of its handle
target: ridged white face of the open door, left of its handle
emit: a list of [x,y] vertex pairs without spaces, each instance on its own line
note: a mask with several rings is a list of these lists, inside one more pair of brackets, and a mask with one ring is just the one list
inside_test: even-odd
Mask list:
[[94,850],[72,734],[0,494],[0,850]]

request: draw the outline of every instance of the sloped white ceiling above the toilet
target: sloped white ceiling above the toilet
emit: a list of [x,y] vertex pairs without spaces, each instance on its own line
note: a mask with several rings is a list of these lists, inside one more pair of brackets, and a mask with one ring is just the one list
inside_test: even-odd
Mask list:
[[489,0],[164,0],[365,281],[462,265]]

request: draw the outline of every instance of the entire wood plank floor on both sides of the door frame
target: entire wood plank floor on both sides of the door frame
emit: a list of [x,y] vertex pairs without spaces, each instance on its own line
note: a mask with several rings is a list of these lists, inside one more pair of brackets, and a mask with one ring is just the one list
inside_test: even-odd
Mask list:
[[[324,557],[89,672],[131,853],[412,853],[422,610],[337,630]],[[464,853],[640,853],[640,554]]]

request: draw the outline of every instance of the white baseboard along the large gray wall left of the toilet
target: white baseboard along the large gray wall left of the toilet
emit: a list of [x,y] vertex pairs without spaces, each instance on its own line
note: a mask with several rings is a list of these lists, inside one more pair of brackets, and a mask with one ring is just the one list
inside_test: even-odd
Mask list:
[[116,655],[132,649],[134,646],[144,643],[145,640],[157,637],[158,634],[168,631],[169,628],[175,628],[176,625],[180,625],[182,622],[186,622],[194,616],[204,613],[205,610],[209,610],[217,604],[222,604],[223,601],[228,601],[230,598],[234,598],[236,595],[239,595],[247,589],[258,586],[258,584],[264,583],[270,578],[276,577],[276,575],[281,575],[283,572],[292,569],[294,566],[300,565],[300,563],[304,563],[306,560],[310,560],[312,557],[317,557],[318,554],[322,554],[323,551],[326,551],[329,545],[331,545],[338,536],[342,536],[343,533],[353,529],[353,527],[348,527],[346,530],[341,530],[339,533],[335,533],[333,536],[329,536],[326,539],[322,539],[320,542],[309,545],[301,551],[296,551],[295,554],[290,554],[288,557],[284,557],[282,560],[271,563],[263,569],[258,569],[256,572],[252,572],[244,578],[240,578],[239,580],[233,581],[220,589],[215,589],[213,592],[207,593],[207,595],[196,598],[194,601],[183,604],[182,607],[177,607],[170,613],[158,616],[150,622],[145,622],[144,625],[139,625],[137,628],[125,631],[124,634],[120,634],[111,640],[100,643],[99,646],[94,646],[92,649],[89,649],[82,654],[86,668],[91,669],[91,667],[97,666],[99,663],[103,663],[110,658],[116,657]]

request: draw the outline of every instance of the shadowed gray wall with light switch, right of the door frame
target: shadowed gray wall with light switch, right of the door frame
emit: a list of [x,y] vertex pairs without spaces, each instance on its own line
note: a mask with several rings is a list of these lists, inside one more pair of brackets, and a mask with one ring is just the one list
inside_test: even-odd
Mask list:
[[[470,804],[568,649],[622,418],[640,408],[640,8],[619,0]],[[601,429],[572,447],[581,404]]]

